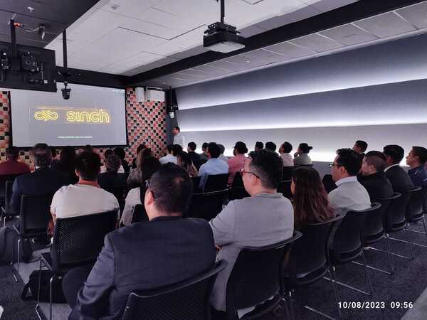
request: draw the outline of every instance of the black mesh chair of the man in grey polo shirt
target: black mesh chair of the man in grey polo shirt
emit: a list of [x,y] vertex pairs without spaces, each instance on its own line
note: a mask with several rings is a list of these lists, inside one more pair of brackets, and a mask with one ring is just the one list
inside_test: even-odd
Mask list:
[[281,302],[285,258],[292,243],[300,237],[301,233],[295,231],[288,240],[263,247],[244,247],[239,252],[226,287],[227,320],[239,319],[237,310],[251,306],[256,306],[255,310],[240,319],[255,319]]

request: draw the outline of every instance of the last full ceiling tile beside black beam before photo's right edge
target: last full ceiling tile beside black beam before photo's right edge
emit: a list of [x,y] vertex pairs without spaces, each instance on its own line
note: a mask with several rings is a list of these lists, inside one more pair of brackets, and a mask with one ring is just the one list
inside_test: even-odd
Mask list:
[[386,38],[388,36],[395,36],[396,34],[416,30],[410,23],[396,16],[393,12],[356,21],[354,24],[364,28],[364,30],[369,31],[379,38]]

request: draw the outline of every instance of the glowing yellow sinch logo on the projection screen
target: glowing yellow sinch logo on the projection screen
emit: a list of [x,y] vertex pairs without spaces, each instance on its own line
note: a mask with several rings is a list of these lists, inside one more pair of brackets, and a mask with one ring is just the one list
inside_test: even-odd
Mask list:
[[34,112],[34,119],[38,121],[55,121],[60,123],[101,123],[109,124],[110,113],[103,109],[72,109],[72,108],[52,108]]

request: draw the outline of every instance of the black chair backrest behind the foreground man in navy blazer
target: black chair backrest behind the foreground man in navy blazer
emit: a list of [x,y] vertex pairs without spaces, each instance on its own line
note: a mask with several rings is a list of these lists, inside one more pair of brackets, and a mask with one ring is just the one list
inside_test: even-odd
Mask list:
[[149,292],[132,292],[123,320],[210,320],[211,291],[218,272],[227,265],[219,261],[199,276]]

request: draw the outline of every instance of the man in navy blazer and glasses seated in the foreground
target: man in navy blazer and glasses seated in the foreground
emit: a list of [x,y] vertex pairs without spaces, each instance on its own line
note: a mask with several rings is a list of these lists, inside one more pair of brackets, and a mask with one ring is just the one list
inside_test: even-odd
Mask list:
[[[191,279],[214,266],[216,250],[209,223],[182,218],[191,188],[189,175],[175,164],[164,164],[153,174],[144,198],[149,221],[106,235],[86,280],[80,271],[85,267],[65,274],[63,289],[73,306],[69,319],[122,319],[130,292]],[[79,282],[84,285],[74,302],[69,289]]]

